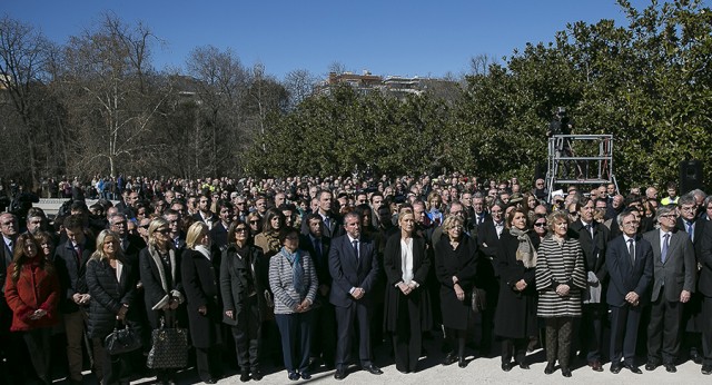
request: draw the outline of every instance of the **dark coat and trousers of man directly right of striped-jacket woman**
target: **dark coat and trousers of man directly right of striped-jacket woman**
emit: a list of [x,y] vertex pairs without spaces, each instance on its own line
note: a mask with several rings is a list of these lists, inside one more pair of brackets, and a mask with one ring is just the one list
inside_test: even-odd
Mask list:
[[[571,224],[570,233],[572,233],[572,238],[578,239],[578,244],[583,250],[586,275],[593,272],[599,280],[597,283],[591,283],[591,279],[589,279],[590,287],[597,285],[601,294],[603,294],[605,293],[604,289],[609,276],[605,267],[605,251],[610,239],[610,231],[607,227],[595,221],[591,224],[591,226],[593,235],[586,229],[583,221],[578,219]],[[583,305],[578,338],[581,340],[582,354],[586,354],[586,359],[590,363],[595,361],[601,362],[603,325],[607,316],[607,310],[604,298],[601,298],[601,303],[587,303]]]

